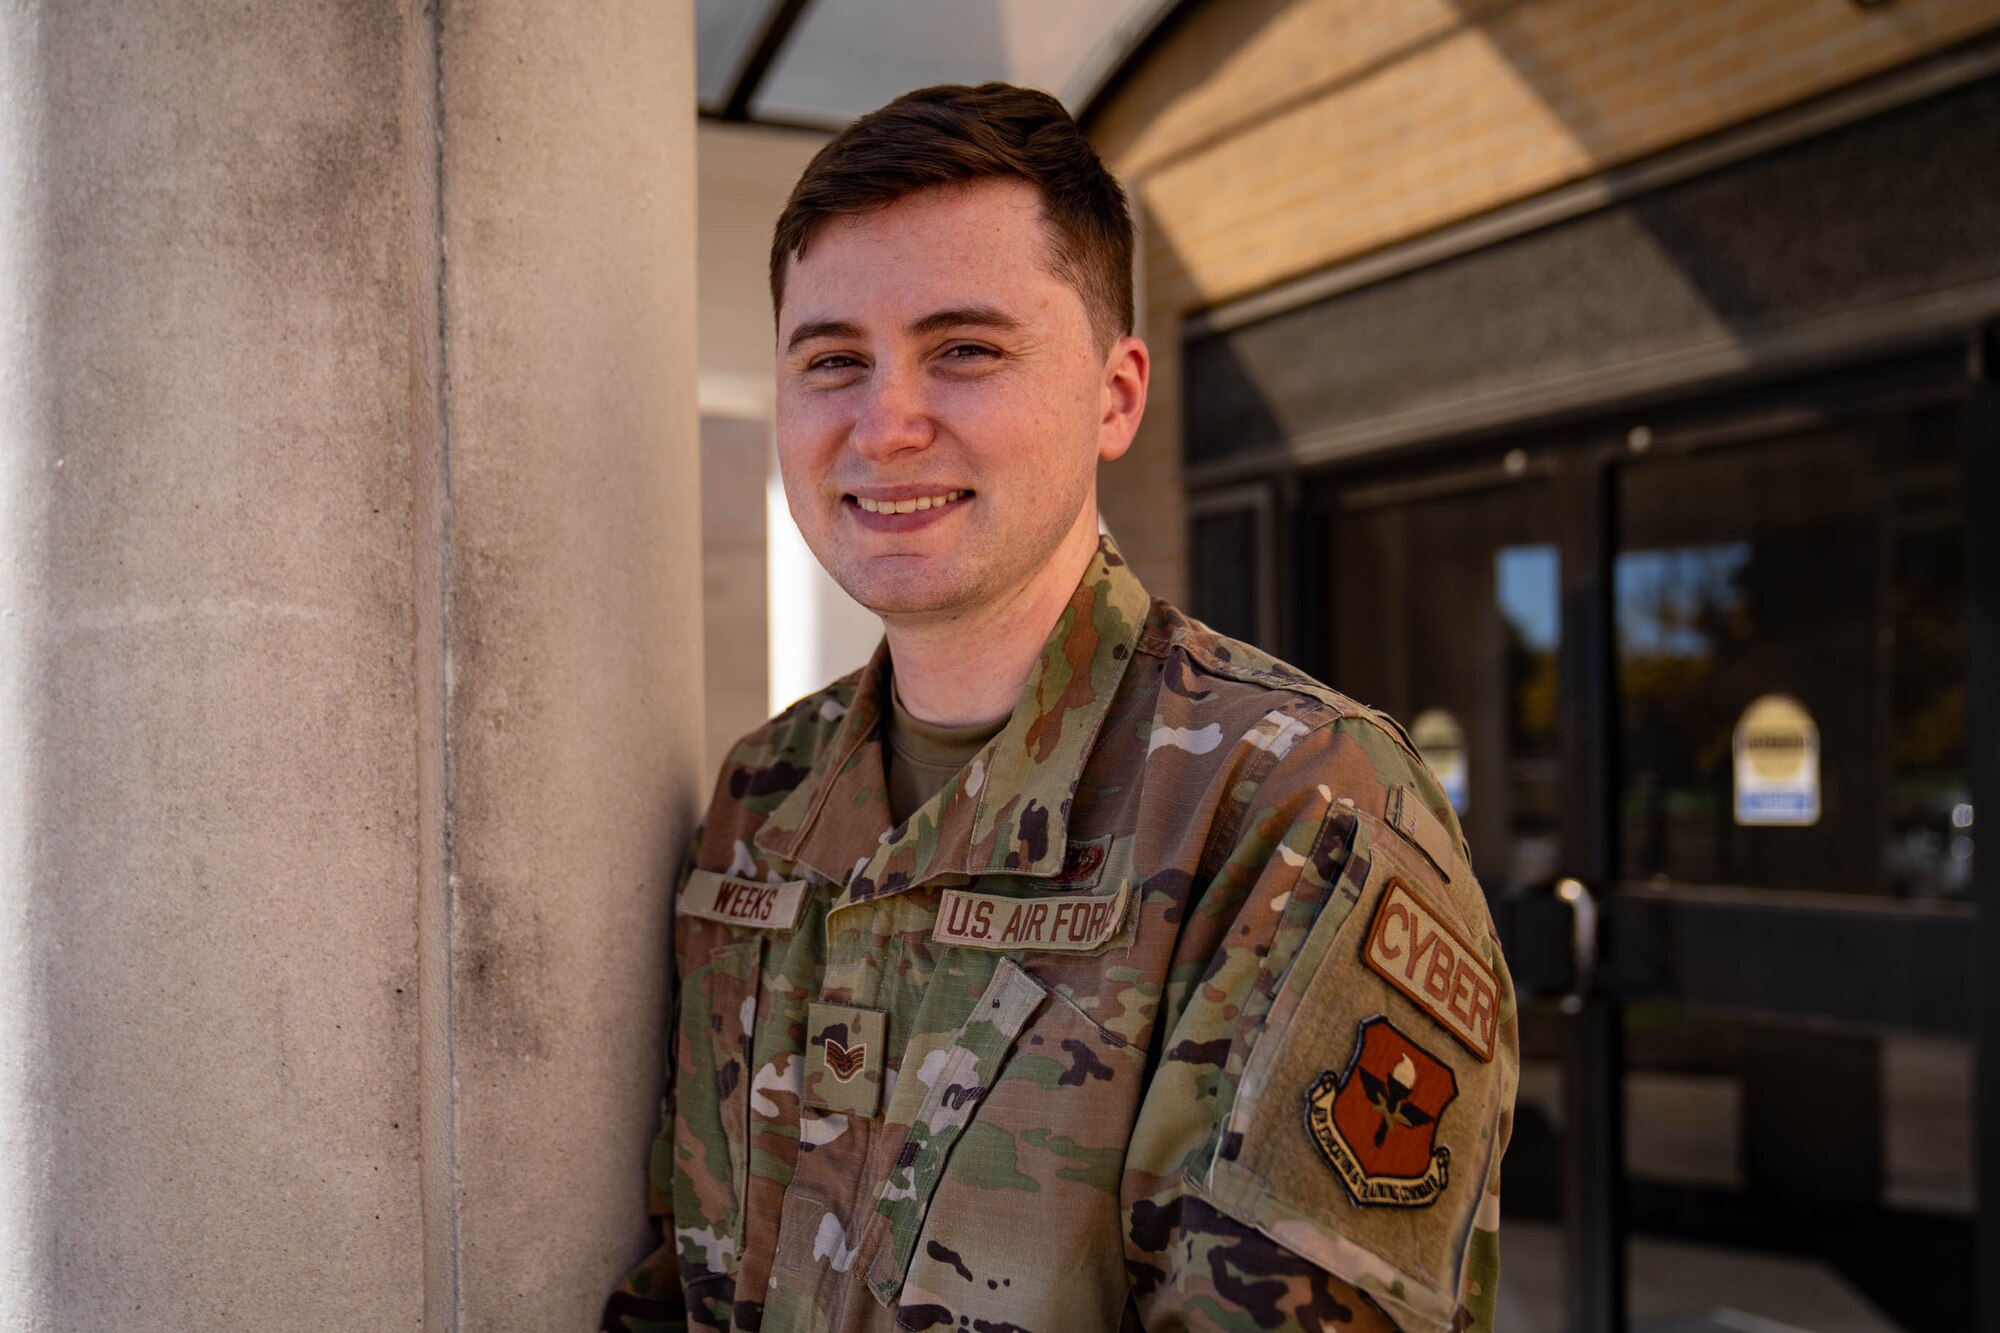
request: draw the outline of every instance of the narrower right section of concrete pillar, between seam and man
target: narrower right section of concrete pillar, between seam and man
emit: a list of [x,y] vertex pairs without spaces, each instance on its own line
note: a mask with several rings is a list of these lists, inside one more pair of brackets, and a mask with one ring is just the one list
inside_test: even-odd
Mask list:
[[686,6],[446,6],[452,849],[468,1329],[644,1249],[702,745]]

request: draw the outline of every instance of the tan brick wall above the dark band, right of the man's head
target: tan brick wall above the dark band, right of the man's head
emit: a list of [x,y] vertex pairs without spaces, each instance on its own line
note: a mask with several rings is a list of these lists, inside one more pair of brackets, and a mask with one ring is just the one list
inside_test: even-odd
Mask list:
[[1186,588],[1188,312],[1740,124],[2000,24],[2000,0],[1206,0],[1092,124],[1144,220],[1154,394],[1104,472]]

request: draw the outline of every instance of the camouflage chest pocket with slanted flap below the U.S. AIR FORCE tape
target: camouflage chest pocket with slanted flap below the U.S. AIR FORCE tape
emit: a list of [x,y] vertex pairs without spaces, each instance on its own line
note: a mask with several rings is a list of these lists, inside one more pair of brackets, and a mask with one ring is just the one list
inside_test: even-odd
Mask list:
[[996,959],[950,1043],[898,1081],[924,1091],[876,1195],[868,1285],[900,1327],[1116,1327],[1138,1075],[1136,1049]]

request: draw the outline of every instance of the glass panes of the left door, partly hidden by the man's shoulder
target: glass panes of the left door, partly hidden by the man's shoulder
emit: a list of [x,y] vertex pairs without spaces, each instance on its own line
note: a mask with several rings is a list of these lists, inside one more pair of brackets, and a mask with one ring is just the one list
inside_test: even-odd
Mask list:
[[[1520,462],[1340,486],[1330,522],[1328,679],[1410,729],[1458,811],[1490,899],[1562,873],[1556,488]],[[1520,1013],[1502,1327],[1554,1333],[1564,1265],[1560,1015],[1532,999]]]

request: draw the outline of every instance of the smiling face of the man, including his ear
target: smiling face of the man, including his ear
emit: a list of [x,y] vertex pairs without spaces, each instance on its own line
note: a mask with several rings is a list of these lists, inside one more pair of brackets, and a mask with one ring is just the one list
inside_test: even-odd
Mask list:
[[884,620],[1060,584],[1096,548],[1096,468],[1132,440],[1146,348],[1092,334],[1034,186],[980,180],[834,218],[778,312],[778,464],[806,544]]

